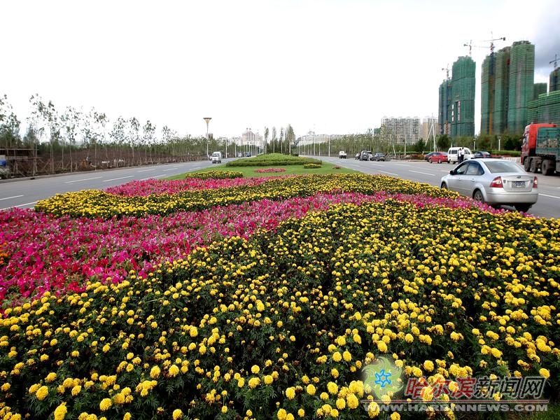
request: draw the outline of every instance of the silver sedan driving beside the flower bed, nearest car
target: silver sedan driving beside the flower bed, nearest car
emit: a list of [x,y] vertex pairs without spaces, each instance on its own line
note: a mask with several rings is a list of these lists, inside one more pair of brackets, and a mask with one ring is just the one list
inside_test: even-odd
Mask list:
[[456,191],[491,206],[528,211],[538,200],[538,179],[509,160],[465,160],[442,177],[440,188]]

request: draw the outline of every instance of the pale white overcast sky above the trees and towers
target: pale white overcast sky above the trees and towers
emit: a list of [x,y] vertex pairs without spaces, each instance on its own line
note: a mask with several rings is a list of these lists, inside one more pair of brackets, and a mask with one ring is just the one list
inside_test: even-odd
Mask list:
[[[365,132],[382,117],[437,116],[459,56],[480,67],[535,44],[535,82],[560,56],[557,0],[2,0],[0,94],[20,120],[38,93],[179,132],[239,136],[291,124],[300,136]],[[24,124],[25,125],[25,124]],[[159,130],[158,130],[159,131]]]

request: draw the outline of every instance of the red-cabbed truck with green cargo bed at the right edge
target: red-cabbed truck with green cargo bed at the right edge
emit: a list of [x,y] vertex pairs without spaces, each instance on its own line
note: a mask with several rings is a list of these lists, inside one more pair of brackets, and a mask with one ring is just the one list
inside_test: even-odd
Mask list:
[[560,127],[556,124],[529,124],[521,146],[521,164],[527,172],[560,174]]

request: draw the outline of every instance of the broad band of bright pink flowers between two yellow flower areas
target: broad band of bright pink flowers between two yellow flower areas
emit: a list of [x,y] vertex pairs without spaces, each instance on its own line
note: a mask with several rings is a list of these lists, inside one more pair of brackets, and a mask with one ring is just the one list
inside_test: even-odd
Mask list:
[[[128,188],[122,191],[132,193]],[[418,207],[479,206],[493,211],[467,198],[387,193],[320,193],[281,202],[262,200],[169,216],[109,220],[55,218],[29,209],[10,209],[0,211],[0,244],[9,250],[0,265],[0,302],[40,297],[47,290],[83,290],[85,281],[92,278],[118,282],[131,269],[145,276],[154,265],[183,258],[196,246],[221,237],[248,237],[256,230],[272,230],[287,218],[300,218],[308,211],[325,210],[332,204],[388,199],[412,202]]]

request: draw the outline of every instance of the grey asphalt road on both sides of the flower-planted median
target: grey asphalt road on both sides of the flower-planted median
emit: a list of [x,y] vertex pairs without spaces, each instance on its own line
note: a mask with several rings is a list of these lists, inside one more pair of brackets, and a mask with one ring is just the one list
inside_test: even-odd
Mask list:
[[[449,173],[454,165],[429,164],[417,161],[362,162],[354,159],[321,158],[365,174],[386,174],[402,179],[410,179],[433,186],[440,186],[440,179]],[[223,160],[225,162],[225,160]],[[78,172],[60,176],[45,176],[36,179],[0,181],[0,210],[10,207],[31,208],[38,200],[52,197],[57,193],[105,189],[133,180],[165,178],[211,166],[209,161],[181,162],[168,165],[132,167],[93,172]],[[528,211],[538,217],[560,218],[560,176],[538,175],[538,202]]]

